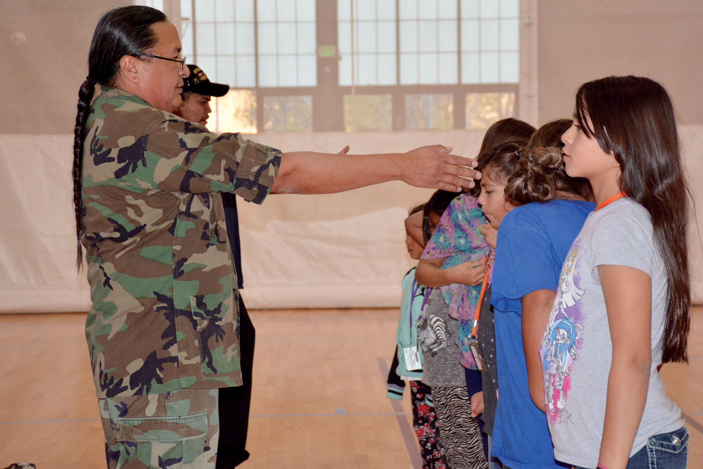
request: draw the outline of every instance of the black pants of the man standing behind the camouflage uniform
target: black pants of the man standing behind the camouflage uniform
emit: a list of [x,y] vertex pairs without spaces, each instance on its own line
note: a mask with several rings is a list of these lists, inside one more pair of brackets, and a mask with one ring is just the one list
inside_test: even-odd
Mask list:
[[240,364],[244,384],[221,387],[219,390],[217,469],[231,469],[249,458],[245,446],[249,429],[249,405],[252,401],[255,330],[242,297],[239,297],[239,318]]

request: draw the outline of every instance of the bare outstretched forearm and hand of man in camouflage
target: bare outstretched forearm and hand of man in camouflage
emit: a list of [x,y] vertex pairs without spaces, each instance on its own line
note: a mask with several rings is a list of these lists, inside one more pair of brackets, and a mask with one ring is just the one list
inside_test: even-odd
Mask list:
[[423,146],[408,153],[340,155],[314,152],[284,153],[271,191],[323,194],[399,179],[411,186],[458,192],[473,187],[480,174],[476,162],[449,154],[451,148]]

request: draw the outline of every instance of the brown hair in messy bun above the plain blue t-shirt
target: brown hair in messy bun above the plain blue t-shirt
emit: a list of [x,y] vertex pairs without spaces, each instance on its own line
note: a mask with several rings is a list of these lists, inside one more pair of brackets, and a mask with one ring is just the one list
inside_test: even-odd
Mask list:
[[569,177],[564,169],[562,134],[571,124],[569,119],[547,122],[517,150],[515,168],[505,186],[505,196],[513,205],[547,202],[565,195],[593,198],[588,180]]

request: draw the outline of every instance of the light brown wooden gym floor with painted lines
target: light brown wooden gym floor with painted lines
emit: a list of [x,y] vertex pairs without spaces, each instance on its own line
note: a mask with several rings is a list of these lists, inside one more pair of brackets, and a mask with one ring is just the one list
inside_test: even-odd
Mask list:
[[[420,468],[408,391],[385,397],[396,309],[250,311],[257,328],[247,449],[240,467]],[[84,314],[0,314],[0,468],[104,468]],[[690,364],[662,368],[703,467],[703,308]]]

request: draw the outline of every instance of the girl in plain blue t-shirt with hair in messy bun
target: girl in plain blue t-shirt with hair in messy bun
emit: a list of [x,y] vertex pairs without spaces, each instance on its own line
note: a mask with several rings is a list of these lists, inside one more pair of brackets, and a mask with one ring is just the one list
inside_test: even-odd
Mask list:
[[541,370],[537,350],[561,265],[594,207],[588,182],[569,179],[562,168],[558,147],[569,125],[550,122],[527,146],[508,144],[479,157],[479,203],[490,224],[500,225],[491,283],[498,371],[491,454],[511,469],[562,467],[546,416],[530,397],[542,386],[541,373],[533,382],[528,370]]

